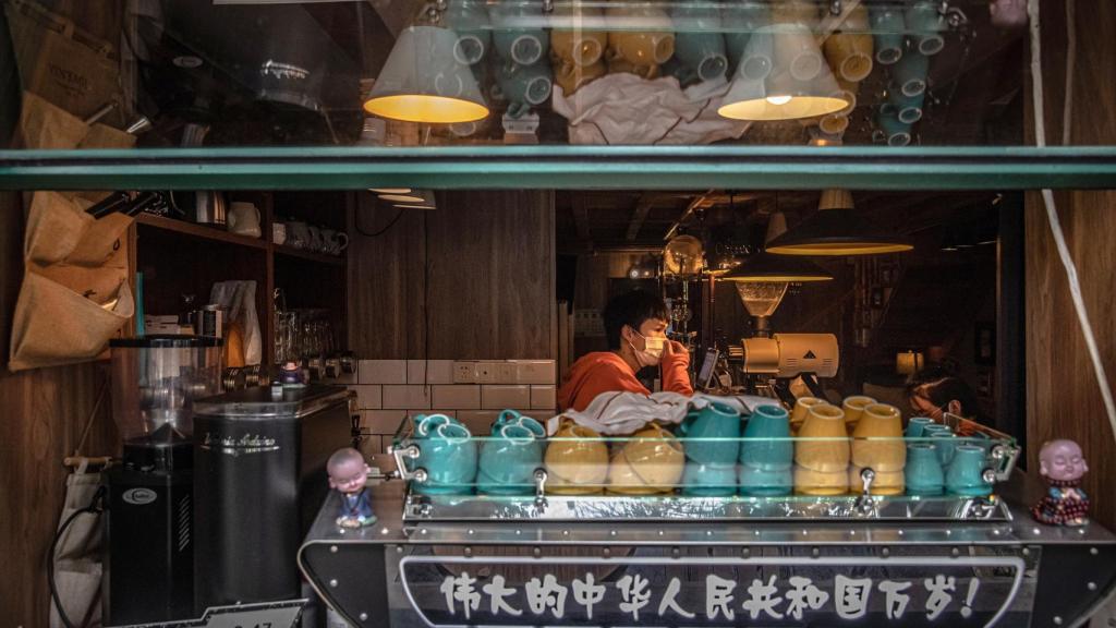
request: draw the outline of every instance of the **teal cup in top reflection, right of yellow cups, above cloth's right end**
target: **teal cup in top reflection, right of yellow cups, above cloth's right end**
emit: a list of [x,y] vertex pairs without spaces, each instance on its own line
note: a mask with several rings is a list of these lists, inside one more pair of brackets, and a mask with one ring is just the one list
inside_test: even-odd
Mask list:
[[671,17],[675,26],[674,58],[681,67],[680,73],[692,80],[723,78],[729,72],[729,58],[721,35],[720,11],[692,1],[681,2]]

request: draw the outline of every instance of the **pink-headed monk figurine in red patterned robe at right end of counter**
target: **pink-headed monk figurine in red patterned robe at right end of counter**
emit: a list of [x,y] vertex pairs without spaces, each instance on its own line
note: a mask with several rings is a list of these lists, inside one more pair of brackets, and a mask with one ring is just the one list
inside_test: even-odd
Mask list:
[[1089,470],[1081,448],[1072,440],[1051,440],[1039,451],[1039,474],[1050,488],[1031,514],[1049,525],[1085,525],[1089,497],[1081,491],[1081,476]]

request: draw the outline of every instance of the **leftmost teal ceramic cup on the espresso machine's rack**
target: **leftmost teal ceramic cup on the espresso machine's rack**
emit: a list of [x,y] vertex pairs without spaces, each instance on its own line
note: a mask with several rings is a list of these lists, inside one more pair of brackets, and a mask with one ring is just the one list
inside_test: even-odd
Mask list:
[[415,468],[426,470],[426,482],[414,482],[412,488],[415,492],[424,495],[466,495],[473,492],[477,441],[465,426],[443,422],[430,430],[417,445],[420,454]]

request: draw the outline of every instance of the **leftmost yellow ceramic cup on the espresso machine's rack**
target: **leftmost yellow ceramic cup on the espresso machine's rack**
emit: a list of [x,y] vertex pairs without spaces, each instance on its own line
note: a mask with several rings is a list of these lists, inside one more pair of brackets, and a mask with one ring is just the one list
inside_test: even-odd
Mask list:
[[547,492],[558,495],[593,495],[608,479],[608,445],[596,431],[564,421],[547,439],[545,456]]

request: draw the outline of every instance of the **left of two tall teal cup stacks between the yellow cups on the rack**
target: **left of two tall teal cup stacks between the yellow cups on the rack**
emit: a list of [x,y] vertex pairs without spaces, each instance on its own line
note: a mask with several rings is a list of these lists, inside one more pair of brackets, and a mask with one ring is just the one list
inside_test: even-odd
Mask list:
[[703,497],[734,495],[740,412],[712,402],[691,411],[679,426],[679,435],[686,453],[682,493]]

